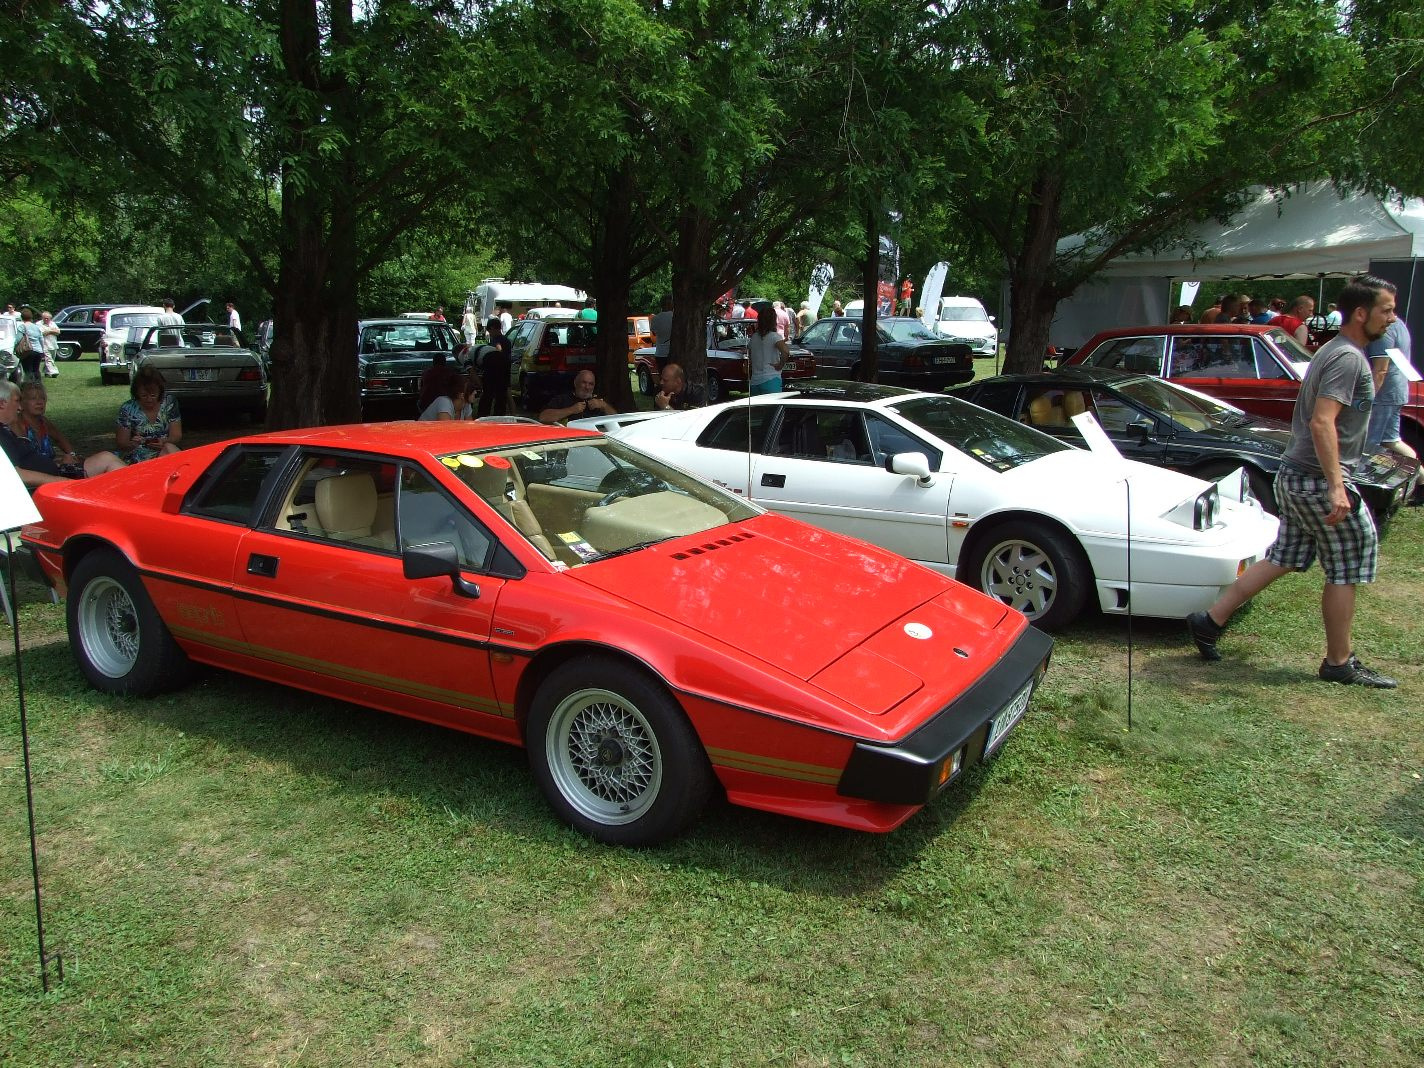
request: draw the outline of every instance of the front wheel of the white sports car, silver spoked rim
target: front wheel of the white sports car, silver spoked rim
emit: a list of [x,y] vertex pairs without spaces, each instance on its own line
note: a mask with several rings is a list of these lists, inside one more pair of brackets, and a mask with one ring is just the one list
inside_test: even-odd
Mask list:
[[1092,585],[1092,570],[1078,543],[1032,520],[984,531],[957,575],[1044,631],[1077,619]]

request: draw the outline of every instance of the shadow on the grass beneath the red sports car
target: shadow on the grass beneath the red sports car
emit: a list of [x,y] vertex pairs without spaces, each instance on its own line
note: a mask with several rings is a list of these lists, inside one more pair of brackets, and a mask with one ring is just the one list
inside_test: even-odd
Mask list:
[[[204,739],[235,753],[239,765],[289,768],[333,792],[375,796],[392,819],[434,817],[468,827],[456,832],[453,844],[486,830],[578,854],[605,849],[554,816],[525,753],[500,742],[215,668],[198,668],[192,684],[158,698],[110,698],[88,689],[63,641],[26,654],[26,681],[31,708],[51,701],[85,706],[93,715]],[[711,870],[793,891],[859,894],[913,864],[973,803],[987,775],[971,769],[891,834],[807,823],[719,797],[684,837],[625,853],[649,871]]]

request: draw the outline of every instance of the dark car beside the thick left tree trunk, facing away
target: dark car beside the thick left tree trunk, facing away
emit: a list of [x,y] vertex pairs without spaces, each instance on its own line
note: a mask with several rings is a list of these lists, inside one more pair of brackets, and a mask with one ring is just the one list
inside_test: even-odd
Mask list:
[[362,419],[416,419],[420,376],[441,352],[454,370],[461,346],[450,325],[437,319],[362,319],[356,325]]

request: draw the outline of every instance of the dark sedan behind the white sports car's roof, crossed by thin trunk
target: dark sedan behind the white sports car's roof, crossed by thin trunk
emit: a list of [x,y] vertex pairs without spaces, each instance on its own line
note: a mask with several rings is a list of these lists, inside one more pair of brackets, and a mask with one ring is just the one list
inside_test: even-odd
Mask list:
[[[864,322],[853,316],[820,319],[796,337],[816,357],[823,379],[856,379]],[[886,386],[937,392],[974,377],[974,353],[963,342],[947,342],[918,319],[876,320],[877,380]]]

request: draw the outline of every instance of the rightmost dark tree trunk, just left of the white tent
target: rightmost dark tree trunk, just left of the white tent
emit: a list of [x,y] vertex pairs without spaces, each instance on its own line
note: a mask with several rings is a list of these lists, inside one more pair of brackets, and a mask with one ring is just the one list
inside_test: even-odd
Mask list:
[[1062,206],[1062,177],[1044,171],[1034,182],[1024,241],[1010,262],[1010,335],[1004,373],[1022,375],[1044,369],[1048,332],[1061,298],[1054,283],[1054,255],[1058,251],[1058,216]]

